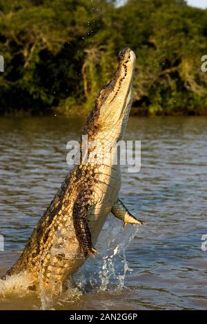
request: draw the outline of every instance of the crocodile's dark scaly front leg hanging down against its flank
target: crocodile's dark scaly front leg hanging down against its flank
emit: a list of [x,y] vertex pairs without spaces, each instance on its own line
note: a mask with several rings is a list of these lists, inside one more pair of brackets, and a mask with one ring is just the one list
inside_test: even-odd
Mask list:
[[88,204],[87,196],[81,193],[77,196],[72,212],[75,233],[79,241],[81,252],[83,252],[85,256],[89,254],[94,257],[97,253],[97,249],[92,246],[91,234],[88,226],[89,213],[90,205]]

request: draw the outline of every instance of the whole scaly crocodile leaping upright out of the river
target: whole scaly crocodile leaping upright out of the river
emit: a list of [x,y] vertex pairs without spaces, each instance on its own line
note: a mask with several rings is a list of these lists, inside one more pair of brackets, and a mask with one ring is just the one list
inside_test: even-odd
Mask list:
[[[82,135],[90,143],[118,143],[126,130],[132,105],[135,53],[119,53],[115,77],[104,86],[89,114]],[[80,141],[81,161],[83,141]],[[114,150],[110,150],[111,154]],[[34,228],[17,263],[2,279],[27,272],[43,287],[59,287],[74,274],[88,256],[95,256],[95,243],[110,212],[128,223],[142,224],[119,199],[120,163],[99,163],[100,147],[88,150],[86,163],[74,165],[48,209]],[[113,156],[112,156],[113,158]],[[103,160],[101,160],[103,161]]]

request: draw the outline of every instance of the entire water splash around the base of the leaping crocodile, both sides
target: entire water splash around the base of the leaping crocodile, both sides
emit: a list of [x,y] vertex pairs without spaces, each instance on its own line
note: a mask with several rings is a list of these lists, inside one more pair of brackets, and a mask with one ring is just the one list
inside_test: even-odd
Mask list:
[[[109,216],[103,227],[97,242],[97,254],[95,259],[89,258],[78,272],[66,283],[59,296],[48,293],[42,283],[41,262],[39,267],[39,290],[34,292],[39,299],[41,310],[53,310],[65,303],[76,303],[84,292],[106,292],[113,290],[119,292],[124,288],[126,274],[130,270],[126,259],[126,249],[137,234],[138,227],[122,223]],[[42,256],[43,257],[43,256]],[[75,285],[72,285],[74,281]],[[27,272],[8,277],[6,281],[0,281],[0,296],[15,293],[26,296],[33,284]],[[55,305],[55,306],[54,306]]]

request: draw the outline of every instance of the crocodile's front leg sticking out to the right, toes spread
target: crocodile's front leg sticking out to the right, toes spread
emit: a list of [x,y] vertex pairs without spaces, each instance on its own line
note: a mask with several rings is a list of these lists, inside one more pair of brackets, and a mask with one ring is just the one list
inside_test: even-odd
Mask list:
[[144,221],[139,221],[139,219],[136,219],[135,216],[130,214],[130,212],[120,199],[118,199],[115,205],[113,205],[111,212],[115,215],[115,217],[117,217],[117,219],[124,221],[124,227],[127,224],[144,224]]

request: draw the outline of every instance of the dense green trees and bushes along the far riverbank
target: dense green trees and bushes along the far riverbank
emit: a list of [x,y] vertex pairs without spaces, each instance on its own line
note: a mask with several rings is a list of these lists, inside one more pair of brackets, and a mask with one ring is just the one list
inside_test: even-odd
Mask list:
[[185,1],[0,0],[0,112],[81,114],[137,54],[134,114],[206,114],[207,10]]

